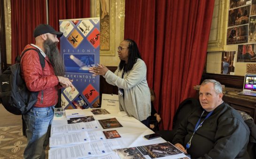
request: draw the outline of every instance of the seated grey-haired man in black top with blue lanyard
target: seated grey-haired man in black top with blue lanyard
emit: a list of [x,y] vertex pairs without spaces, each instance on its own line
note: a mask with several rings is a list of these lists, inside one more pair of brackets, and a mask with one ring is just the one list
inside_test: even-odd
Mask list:
[[174,135],[172,143],[193,159],[248,158],[248,126],[222,97],[218,81],[204,80],[199,90],[202,108],[191,112]]

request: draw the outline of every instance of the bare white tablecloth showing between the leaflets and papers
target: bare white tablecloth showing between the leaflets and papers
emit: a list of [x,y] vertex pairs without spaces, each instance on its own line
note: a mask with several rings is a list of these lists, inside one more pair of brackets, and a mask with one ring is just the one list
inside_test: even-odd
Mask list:
[[[117,130],[117,132],[121,136],[120,138],[116,138],[117,142],[121,146],[120,148],[151,145],[151,144],[166,142],[162,137],[158,137],[151,140],[146,139],[144,136],[148,134],[152,134],[154,133],[154,131],[147,128],[143,123],[141,123],[134,117],[130,117],[130,116],[121,117],[120,115],[118,115],[119,110],[107,109],[110,114],[97,115],[97,116],[94,116],[91,110],[92,109],[78,109],[78,111],[83,111],[86,114],[86,116],[93,116],[95,120],[109,119],[109,118],[115,117],[118,120],[118,122],[122,124],[123,127],[120,127],[120,128],[103,129],[100,126],[100,129],[98,129],[101,131]],[[65,123],[67,123],[66,116],[62,116],[62,117],[54,116],[52,125],[65,124]]]

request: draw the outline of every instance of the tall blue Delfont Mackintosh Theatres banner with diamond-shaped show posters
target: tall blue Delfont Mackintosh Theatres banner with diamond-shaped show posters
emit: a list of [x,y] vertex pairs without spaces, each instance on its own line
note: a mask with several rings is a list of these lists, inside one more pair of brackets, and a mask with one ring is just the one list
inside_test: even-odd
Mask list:
[[100,61],[100,18],[60,20],[61,54],[65,77],[73,79],[74,88],[62,88],[62,108],[94,108],[99,106],[100,77],[89,67]]

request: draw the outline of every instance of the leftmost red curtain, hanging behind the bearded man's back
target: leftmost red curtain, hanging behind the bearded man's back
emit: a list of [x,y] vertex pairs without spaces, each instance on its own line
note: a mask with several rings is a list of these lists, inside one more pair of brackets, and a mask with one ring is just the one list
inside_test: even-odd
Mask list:
[[33,30],[46,23],[45,0],[11,0],[12,64],[29,43],[35,43]]

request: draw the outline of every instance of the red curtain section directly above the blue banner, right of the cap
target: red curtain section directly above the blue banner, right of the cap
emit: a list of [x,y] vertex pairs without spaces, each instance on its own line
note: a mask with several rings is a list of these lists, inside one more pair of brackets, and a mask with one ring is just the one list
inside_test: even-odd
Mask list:
[[90,0],[48,0],[49,25],[60,30],[59,20],[90,17]]

